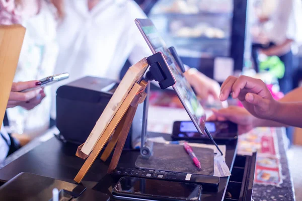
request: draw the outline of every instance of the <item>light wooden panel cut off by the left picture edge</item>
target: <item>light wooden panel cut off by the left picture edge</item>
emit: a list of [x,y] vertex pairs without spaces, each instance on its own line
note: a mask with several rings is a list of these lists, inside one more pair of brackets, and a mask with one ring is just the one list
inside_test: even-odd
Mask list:
[[0,25],[0,126],[10,97],[25,30],[21,25]]

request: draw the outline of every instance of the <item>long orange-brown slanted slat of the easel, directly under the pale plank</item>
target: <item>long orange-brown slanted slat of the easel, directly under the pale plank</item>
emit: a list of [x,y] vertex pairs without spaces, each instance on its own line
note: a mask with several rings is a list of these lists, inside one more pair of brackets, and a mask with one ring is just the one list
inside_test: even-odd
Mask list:
[[98,157],[99,153],[103,149],[105,143],[108,141],[109,137],[117,127],[118,123],[121,121],[122,117],[125,115],[126,111],[128,110],[133,98],[136,94],[141,91],[142,86],[135,83],[132,89],[130,90],[129,94],[125,98],[124,102],[121,104],[121,107],[116,112],[115,116],[113,117],[110,124],[107,126],[105,132],[97,142],[96,146],[93,148],[91,154],[88,156],[87,160],[85,161],[84,165],[78,172],[77,176],[75,176],[74,181],[80,183],[84,176],[86,175],[89,168],[92,166],[93,162]]

